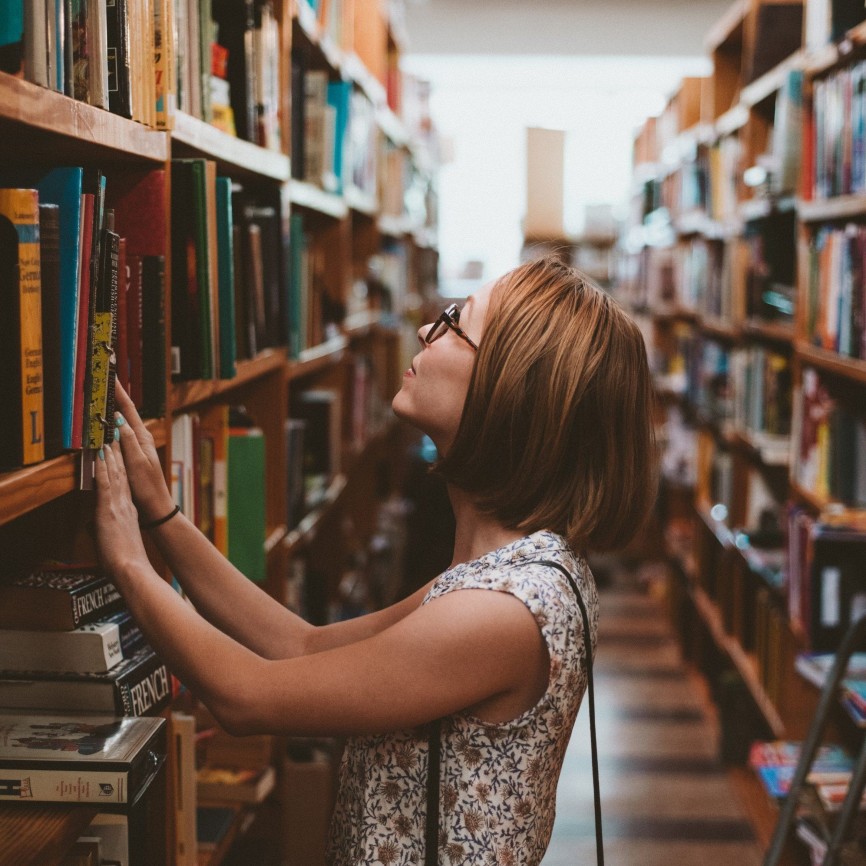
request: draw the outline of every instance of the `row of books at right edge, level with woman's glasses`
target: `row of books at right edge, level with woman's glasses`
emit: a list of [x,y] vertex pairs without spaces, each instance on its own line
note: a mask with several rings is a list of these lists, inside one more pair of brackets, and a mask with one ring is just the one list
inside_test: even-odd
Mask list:
[[849,358],[866,358],[864,263],[863,226],[822,226],[812,235],[805,324],[813,345]]

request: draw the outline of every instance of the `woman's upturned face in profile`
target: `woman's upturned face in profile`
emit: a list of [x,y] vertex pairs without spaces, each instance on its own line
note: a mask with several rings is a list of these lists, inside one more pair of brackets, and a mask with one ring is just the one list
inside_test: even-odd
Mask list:
[[[492,288],[492,284],[485,286],[460,308],[460,328],[476,346],[484,339],[484,318]],[[418,331],[421,351],[403,374],[403,386],[392,406],[398,418],[426,433],[444,454],[460,424],[475,350],[451,328],[446,328],[432,343],[426,343],[424,337],[431,324]]]

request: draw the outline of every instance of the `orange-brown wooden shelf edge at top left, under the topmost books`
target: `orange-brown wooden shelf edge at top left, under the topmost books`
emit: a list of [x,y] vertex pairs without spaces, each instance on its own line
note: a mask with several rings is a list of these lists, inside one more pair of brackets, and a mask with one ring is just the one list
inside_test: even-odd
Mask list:
[[124,160],[164,163],[168,133],[0,72],[0,119],[31,130],[99,145]]

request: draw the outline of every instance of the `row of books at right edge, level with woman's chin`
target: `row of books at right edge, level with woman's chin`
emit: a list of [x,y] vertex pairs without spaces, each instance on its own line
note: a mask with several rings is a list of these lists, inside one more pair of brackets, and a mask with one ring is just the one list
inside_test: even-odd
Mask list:
[[794,390],[792,477],[822,500],[866,507],[866,418],[834,399],[817,370]]

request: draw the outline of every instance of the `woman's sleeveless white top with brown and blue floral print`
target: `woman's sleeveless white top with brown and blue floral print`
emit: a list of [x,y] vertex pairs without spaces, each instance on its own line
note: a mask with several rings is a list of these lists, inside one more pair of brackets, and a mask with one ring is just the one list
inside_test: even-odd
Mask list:
[[[586,689],[583,621],[561,563],[580,589],[595,645],[598,596],[592,574],[566,541],[541,531],[441,574],[424,599],[460,589],[519,598],[550,655],[547,691],[509,722],[466,713],[443,720],[439,862],[443,866],[535,866],[550,840],[556,785]],[[424,729],[349,740],[331,825],[329,866],[424,862],[427,784]]]

